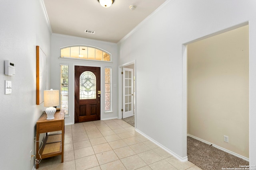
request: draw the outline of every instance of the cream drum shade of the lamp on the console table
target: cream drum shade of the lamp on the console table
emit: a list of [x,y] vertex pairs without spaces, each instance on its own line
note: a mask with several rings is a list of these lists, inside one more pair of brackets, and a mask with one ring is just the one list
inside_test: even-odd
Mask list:
[[44,90],[44,107],[55,107],[60,104],[59,90]]

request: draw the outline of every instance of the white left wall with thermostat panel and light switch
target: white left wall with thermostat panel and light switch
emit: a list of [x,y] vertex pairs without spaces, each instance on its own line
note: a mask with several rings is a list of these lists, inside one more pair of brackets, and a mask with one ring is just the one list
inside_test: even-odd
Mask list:
[[[3,0],[0,5],[0,169],[31,170],[36,121],[43,104],[36,106],[36,45],[47,55],[50,84],[50,31],[39,0]],[[4,75],[4,60],[16,64],[16,76]],[[12,94],[4,94],[4,80]]]

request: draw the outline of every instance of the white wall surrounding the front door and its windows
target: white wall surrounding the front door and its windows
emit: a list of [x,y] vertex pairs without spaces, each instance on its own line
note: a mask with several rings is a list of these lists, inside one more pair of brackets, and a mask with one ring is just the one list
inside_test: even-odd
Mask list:
[[[89,45],[97,47],[107,51],[111,54],[112,62],[100,62],[100,61],[86,61],[78,59],[60,59],[60,48],[70,46],[70,45]],[[108,43],[105,41],[97,41],[92,39],[85,39],[80,37],[72,37],[68,35],[52,34],[52,67],[51,67],[51,86],[50,88],[60,90],[60,64],[68,64],[69,74],[68,74],[68,86],[69,86],[69,96],[68,96],[68,112],[69,117],[65,118],[65,124],[74,123],[74,65],[83,66],[97,66],[101,67],[101,119],[110,119],[118,117],[118,90],[114,87],[117,84],[117,44]],[[105,88],[104,88],[104,68],[112,68],[112,112],[105,113]]]

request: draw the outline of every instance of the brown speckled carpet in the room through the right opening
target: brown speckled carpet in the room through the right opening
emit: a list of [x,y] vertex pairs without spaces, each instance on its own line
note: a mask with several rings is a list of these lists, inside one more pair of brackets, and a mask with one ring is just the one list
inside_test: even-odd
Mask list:
[[188,160],[202,170],[222,170],[222,168],[241,168],[249,162],[209,146],[191,137],[187,137]]

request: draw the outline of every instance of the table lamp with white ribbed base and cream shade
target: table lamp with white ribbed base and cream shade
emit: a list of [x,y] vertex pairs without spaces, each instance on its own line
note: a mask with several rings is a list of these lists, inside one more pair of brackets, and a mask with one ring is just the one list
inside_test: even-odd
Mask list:
[[56,106],[60,104],[59,90],[44,90],[44,107],[47,115],[47,120],[54,119],[54,113],[56,112]]

